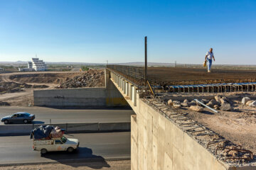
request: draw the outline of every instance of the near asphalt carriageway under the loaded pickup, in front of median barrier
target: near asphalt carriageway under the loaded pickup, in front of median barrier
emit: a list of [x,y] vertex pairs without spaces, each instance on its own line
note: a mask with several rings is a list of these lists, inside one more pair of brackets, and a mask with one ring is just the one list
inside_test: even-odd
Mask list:
[[[0,137],[0,165],[42,162],[60,162],[70,159],[87,159],[105,162],[105,159],[130,158],[130,132],[86,133],[65,135],[80,140],[80,147],[73,153],[48,152],[41,156],[33,151],[29,136]],[[75,160],[73,161],[75,162]],[[104,166],[104,165],[103,165]]]

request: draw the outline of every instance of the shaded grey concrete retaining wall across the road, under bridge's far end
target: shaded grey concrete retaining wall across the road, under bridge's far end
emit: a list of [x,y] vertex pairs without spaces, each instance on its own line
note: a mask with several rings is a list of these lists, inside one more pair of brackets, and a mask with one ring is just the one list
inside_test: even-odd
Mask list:
[[122,94],[109,81],[105,71],[105,87],[50,89],[33,91],[34,106],[49,107],[106,107],[129,106]]

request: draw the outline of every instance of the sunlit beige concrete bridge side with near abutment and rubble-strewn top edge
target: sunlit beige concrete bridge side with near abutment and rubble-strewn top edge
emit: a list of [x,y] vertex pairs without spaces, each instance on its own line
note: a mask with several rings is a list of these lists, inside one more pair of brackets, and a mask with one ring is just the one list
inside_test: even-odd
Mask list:
[[253,161],[227,162],[215,145],[225,140],[198,140],[196,133],[206,132],[207,128],[187,121],[161,101],[144,98],[142,88],[113,69],[106,69],[105,80],[106,89],[115,86],[136,113],[131,118],[132,170],[256,169]]

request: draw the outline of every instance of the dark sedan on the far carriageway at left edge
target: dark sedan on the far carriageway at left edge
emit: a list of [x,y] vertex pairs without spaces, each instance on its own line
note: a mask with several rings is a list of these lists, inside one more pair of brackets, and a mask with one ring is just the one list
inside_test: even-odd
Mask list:
[[14,113],[14,115],[7,115],[4,118],[1,118],[1,122],[4,124],[8,123],[29,123],[35,119],[35,115],[29,114],[26,112]]

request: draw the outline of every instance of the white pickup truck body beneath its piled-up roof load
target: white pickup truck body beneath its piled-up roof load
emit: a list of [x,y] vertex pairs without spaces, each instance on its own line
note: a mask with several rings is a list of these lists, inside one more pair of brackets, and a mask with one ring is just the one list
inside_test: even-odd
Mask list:
[[79,141],[77,139],[69,139],[65,136],[50,140],[33,140],[33,150],[41,151],[41,154],[51,151],[73,152],[78,146]]

